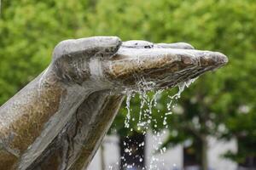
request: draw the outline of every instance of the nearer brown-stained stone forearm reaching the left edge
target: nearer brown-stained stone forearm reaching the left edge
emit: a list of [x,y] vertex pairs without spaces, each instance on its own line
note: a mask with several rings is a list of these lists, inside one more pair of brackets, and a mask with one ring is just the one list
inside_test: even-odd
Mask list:
[[[53,75],[43,74],[1,107],[0,153],[3,156],[0,156],[0,167],[9,167],[10,161],[13,165],[19,161],[42,133],[45,123],[60,109],[61,100],[66,95],[67,90]],[[9,161],[6,161],[7,158]]]

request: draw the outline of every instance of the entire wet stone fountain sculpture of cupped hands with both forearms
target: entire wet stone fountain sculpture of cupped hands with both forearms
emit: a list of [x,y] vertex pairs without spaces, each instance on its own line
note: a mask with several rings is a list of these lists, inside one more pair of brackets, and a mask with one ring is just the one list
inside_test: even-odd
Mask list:
[[60,42],[49,67],[0,108],[0,169],[85,169],[126,88],[172,88],[227,63],[187,43],[88,37]]

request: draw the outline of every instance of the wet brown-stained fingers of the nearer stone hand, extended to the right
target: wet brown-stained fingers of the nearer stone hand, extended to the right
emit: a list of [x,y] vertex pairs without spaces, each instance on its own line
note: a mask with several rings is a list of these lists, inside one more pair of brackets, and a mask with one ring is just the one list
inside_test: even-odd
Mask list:
[[135,86],[137,77],[155,82],[159,88],[172,87],[179,82],[200,76],[228,62],[224,54],[195,49],[120,48],[104,63],[105,75],[111,81]]

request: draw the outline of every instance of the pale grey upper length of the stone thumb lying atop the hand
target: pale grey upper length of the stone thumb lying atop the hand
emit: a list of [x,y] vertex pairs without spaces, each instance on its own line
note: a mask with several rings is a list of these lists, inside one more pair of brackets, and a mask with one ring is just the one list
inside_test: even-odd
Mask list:
[[119,37],[86,37],[62,41],[56,45],[54,59],[61,56],[90,58],[95,55],[108,58],[115,54],[120,45]]

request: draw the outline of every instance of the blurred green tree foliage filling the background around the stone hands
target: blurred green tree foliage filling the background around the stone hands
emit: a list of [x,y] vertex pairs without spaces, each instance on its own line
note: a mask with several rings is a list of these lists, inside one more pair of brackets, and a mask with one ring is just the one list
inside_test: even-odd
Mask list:
[[[0,104],[49,64],[57,42],[67,38],[116,35],[123,41],[189,42],[226,54],[229,65],[200,77],[177,101],[167,118],[166,146],[205,136],[238,139],[243,162],[256,156],[256,3],[254,0],[3,0],[0,18]],[[162,125],[167,96],[153,111]],[[152,94],[151,94],[152,95]],[[140,101],[131,101],[137,125]],[[160,110],[160,113],[157,111]],[[114,125],[125,135],[125,107]],[[178,133],[177,133],[178,132]]]

